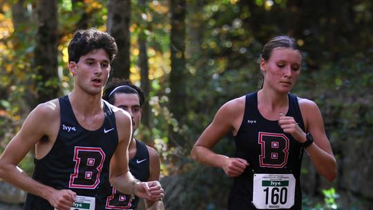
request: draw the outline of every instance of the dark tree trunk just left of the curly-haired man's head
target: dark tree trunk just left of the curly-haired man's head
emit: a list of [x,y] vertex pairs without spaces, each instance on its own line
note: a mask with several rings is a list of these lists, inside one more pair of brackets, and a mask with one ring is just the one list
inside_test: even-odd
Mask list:
[[37,35],[35,37],[35,70],[37,102],[57,97],[57,0],[40,0],[37,4]]

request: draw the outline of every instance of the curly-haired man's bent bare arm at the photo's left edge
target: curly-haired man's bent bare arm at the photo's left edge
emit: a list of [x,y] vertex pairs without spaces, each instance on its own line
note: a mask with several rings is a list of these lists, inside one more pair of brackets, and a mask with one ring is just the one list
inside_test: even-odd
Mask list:
[[[26,156],[42,137],[48,137],[48,128],[55,118],[55,105],[50,102],[40,104],[26,117],[21,130],[12,138],[5,151],[0,156],[0,177],[15,187],[48,200],[52,205],[57,205],[59,196],[64,197],[68,205],[73,204],[75,193],[72,191],[61,192],[41,184],[30,178],[17,165]],[[59,193],[59,194],[58,194]],[[56,197],[57,196],[57,197]]]

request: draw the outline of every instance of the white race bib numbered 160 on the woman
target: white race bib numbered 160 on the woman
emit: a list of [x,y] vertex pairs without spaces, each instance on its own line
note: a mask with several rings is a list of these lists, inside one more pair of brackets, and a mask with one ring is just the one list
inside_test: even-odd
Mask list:
[[292,174],[254,174],[253,204],[257,209],[290,209],[296,180]]

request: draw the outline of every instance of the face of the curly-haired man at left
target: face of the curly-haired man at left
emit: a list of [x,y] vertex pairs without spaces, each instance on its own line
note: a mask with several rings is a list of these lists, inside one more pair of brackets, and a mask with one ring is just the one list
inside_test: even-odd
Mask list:
[[102,92],[110,73],[110,61],[104,49],[92,50],[69,68],[75,76],[75,88],[81,88],[90,95]]

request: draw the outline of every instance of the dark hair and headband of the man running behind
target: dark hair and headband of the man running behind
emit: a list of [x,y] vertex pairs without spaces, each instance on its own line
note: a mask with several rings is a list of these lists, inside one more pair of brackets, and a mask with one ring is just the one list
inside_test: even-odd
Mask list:
[[119,79],[119,78],[111,79],[111,82],[106,84],[104,88],[104,94],[102,96],[102,99],[106,100],[110,104],[114,104],[115,93],[137,94],[140,100],[140,107],[142,107],[142,105],[145,102],[144,92],[141,90],[141,88],[132,84],[131,81],[129,81],[128,79]]

